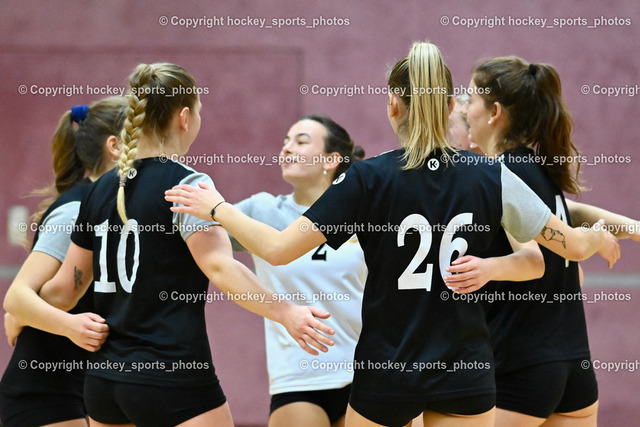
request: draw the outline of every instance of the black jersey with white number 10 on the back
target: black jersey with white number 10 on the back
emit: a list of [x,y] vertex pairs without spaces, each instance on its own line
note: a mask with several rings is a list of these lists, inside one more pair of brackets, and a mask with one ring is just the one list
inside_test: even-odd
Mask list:
[[185,243],[213,223],[174,214],[164,199],[177,184],[213,183],[166,158],[138,160],[135,170],[125,190],[128,226],[117,213],[113,170],[89,189],[71,236],[93,251],[95,310],[110,330],[87,374],[158,386],[213,384],[204,317],[209,280]]

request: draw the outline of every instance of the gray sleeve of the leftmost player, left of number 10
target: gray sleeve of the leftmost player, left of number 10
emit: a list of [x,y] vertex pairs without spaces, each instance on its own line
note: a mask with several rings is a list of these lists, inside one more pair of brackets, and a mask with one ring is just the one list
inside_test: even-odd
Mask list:
[[79,210],[80,202],[69,202],[51,211],[38,227],[38,241],[33,251],[43,252],[63,262]]

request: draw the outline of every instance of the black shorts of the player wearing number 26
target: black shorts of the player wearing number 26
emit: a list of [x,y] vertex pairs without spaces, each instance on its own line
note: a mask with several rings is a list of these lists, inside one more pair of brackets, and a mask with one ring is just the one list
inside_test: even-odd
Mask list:
[[357,413],[370,421],[389,427],[403,427],[424,411],[455,415],[483,414],[496,405],[496,396],[491,393],[420,403],[367,400],[351,396],[349,404]]

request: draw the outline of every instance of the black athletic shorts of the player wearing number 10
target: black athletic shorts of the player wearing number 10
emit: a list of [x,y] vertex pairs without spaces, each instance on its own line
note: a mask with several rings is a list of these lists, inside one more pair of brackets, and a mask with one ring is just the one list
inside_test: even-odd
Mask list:
[[220,383],[206,387],[160,387],[87,375],[84,399],[89,416],[105,424],[173,427],[222,406]]

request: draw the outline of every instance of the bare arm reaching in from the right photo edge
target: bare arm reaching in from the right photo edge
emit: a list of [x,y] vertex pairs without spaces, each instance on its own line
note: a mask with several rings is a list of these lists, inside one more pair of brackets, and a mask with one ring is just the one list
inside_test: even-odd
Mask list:
[[603,219],[607,230],[618,239],[633,239],[640,242],[640,221],[586,203],[569,199],[566,199],[566,202],[573,224],[587,228]]

